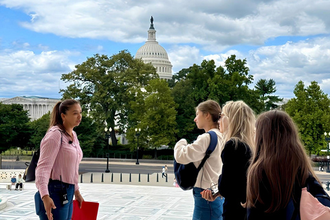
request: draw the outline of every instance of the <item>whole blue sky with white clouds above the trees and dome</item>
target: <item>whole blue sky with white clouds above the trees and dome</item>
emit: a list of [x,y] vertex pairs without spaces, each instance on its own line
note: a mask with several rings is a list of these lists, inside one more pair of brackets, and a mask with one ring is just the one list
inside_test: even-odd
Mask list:
[[[330,1],[0,0],[0,98],[61,97],[62,74],[147,39],[151,15],[173,74],[203,59],[246,58],[283,98],[299,80],[330,94]],[[253,87],[253,85],[252,85]]]

